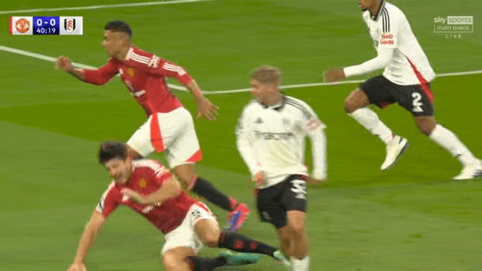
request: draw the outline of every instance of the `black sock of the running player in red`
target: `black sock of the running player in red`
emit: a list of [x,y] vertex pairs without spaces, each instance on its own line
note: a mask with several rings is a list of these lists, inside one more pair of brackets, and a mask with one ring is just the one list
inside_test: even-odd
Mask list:
[[198,177],[192,191],[226,211],[232,211],[237,202],[217,190],[210,182]]

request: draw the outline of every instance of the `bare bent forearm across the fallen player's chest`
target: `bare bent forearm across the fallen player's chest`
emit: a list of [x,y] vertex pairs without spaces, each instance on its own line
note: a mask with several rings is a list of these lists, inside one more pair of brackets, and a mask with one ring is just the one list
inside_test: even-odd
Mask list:
[[156,192],[153,192],[146,196],[143,196],[129,188],[124,188],[123,190],[121,190],[124,196],[129,196],[132,201],[139,202],[141,204],[161,204],[167,199],[177,197],[179,193],[181,193],[181,191],[181,184],[173,177],[165,180],[161,188],[159,188]]

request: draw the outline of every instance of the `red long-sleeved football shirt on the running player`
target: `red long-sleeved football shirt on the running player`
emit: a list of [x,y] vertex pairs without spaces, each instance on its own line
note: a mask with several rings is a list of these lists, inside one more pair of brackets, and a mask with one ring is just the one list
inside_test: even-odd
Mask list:
[[147,115],[153,112],[171,112],[182,106],[169,90],[166,77],[176,78],[184,85],[188,85],[192,80],[184,68],[134,46],[129,49],[125,61],[110,58],[104,66],[96,70],[84,69],[82,72],[84,81],[95,85],[105,84],[120,73],[129,92]]

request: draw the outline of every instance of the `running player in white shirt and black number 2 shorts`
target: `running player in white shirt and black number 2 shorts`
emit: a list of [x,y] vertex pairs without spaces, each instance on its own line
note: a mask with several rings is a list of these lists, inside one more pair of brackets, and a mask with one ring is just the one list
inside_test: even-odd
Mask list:
[[438,124],[433,116],[430,82],[435,73],[415,38],[403,12],[383,0],[359,0],[363,19],[378,56],[363,64],[324,72],[326,82],[338,81],[384,68],[381,76],[368,79],[346,98],[344,109],[387,145],[387,156],[381,170],[390,169],[408,147],[407,139],[394,134],[378,115],[368,108],[381,108],[397,102],[412,113],[420,131],[456,157],[463,166],[453,179],[482,176],[482,161],[475,158],[457,136]]

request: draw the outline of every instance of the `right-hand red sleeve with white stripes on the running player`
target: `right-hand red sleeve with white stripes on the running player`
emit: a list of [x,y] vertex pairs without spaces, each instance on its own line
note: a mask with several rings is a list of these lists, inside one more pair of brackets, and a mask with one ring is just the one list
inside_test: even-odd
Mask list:
[[192,81],[192,77],[183,67],[157,56],[151,58],[149,64],[147,64],[146,71],[148,74],[156,77],[175,78],[179,83],[184,85]]

